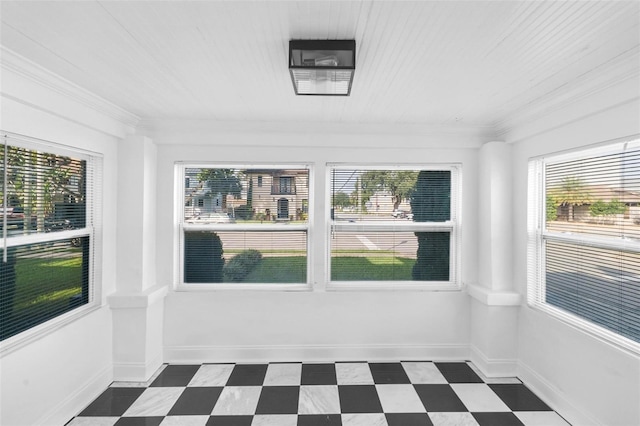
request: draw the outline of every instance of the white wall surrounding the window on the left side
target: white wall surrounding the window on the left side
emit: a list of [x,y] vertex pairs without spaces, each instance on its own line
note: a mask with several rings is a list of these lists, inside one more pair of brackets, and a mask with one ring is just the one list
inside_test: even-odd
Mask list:
[[[84,106],[77,88],[5,53],[0,128],[104,156],[101,307],[25,346],[0,354],[0,424],[65,424],[112,379],[111,311],[104,301],[116,286],[118,139],[114,133],[124,132],[126,126]],[[6,61],[12,61],[11,68],[4,67]],[[40,83],[30,78],[34,74],[42,77]]]

